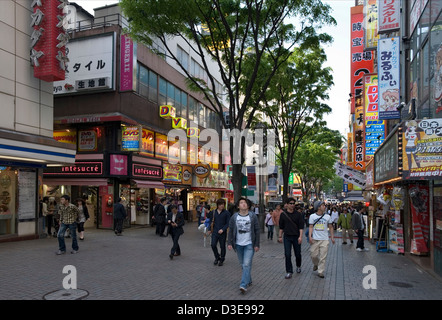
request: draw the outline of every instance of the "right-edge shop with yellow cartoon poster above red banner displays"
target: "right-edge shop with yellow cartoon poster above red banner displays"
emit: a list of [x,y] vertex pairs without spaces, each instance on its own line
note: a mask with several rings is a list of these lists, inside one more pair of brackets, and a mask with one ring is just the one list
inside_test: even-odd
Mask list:
[[374,157],[374,232],[385,251],[430,257],[441,274],[442,120],[403,121]]

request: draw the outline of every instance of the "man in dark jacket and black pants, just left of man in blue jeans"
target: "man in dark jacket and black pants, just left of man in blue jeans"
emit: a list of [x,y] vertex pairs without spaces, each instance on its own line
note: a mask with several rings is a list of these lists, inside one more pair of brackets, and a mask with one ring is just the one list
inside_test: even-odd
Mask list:
[[[218,199],[216,209],[209,212],[211,222],[210,232],[212,233],[212,250],[215,255],[214,265],[222,266],[226,258],[227,228],[229,227],[230,212],[224,209],[226,201]],[[218,242],[221,248],[221,255],[218,252]]]

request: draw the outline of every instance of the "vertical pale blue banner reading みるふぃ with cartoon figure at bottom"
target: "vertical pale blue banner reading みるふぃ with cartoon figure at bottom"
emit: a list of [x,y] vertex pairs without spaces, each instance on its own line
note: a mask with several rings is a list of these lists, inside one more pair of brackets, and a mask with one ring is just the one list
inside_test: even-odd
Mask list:
[[378,76],[379,119],[400,119],[398,37],[379,40]]

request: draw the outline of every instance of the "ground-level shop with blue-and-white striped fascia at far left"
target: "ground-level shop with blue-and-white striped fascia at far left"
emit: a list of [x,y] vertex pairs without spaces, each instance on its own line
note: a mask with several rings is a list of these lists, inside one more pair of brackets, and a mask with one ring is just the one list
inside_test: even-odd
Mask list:
[[47,164],[72,163],[75,149],[46,137],[0,130],[0,241],[40,237],[39,201]]

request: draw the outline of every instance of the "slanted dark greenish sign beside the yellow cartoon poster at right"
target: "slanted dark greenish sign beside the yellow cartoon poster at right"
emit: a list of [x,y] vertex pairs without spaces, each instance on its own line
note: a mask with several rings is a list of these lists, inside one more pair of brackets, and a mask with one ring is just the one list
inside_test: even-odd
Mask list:
[[380,183],[399,176],[398,134],[394,134],[377,150],[374,156],[374,182]]

